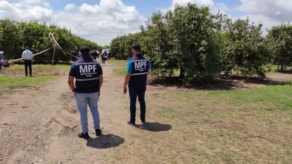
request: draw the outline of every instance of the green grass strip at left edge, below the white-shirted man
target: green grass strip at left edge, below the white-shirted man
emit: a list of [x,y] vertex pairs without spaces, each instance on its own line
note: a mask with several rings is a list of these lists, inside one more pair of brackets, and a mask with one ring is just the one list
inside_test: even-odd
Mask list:
[[15,89],[23,86],[40,85],[58,76],[37,76],[37,77],[8,77],[0,76],[0,94],[16,91]]

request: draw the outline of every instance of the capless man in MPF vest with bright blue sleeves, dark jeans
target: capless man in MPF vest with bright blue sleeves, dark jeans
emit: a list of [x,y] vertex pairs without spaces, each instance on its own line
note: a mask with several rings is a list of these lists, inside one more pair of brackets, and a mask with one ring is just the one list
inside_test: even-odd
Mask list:
[[124,94],[129,87],[130,95],[130,120],[127,122],[130,125],[135,125],[136,117],[136,100],[140,103],[140,119],[145,123],[145,91],[147,83],[147,74],[151,74],[151,65],[149,60],[141,54],[141,47],[138,44],[131,46],[133,56],[128,61],[127,75],[124,83]]

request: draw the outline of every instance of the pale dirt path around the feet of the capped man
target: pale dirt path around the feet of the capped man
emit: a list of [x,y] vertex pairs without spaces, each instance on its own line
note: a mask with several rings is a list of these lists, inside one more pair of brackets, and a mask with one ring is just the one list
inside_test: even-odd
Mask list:
[[[67,76],[45,86],[25,88],[1,103],[0,163],[110,163],[114,147],[129,148],[139,128],[126,125],[128,96],[123,78],[104,67],[99,112],[103,136],[95,138],[89,112],[89,140],[80,139],[79,113]],[[0,107],[1,107],[0,106]],[[132,146],[131,146],[132,145]],[[129,152],[131,152],[129,150]],[[139,157],[137,157],[139,158]]]

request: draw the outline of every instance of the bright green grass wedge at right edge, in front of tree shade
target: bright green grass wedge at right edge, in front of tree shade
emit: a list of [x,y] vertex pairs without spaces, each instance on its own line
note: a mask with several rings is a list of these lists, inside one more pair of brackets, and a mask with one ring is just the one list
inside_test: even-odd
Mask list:
[[258,104],[268,108],[292,110],[292,85],[271,85],[256,89],[214,91],[197,95],[206,94],[237,105]]

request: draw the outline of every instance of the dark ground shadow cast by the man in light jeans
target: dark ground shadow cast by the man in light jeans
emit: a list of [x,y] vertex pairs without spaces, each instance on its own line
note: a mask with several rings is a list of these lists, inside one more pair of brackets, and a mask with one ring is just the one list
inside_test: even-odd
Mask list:
[[87,139],[87,146],[96,149],[108,149],[123,144],[125,140],[117,135],[107,134]]

